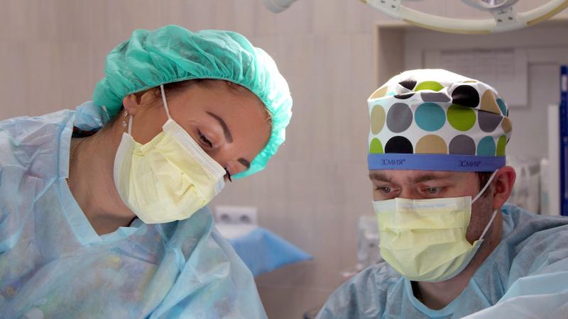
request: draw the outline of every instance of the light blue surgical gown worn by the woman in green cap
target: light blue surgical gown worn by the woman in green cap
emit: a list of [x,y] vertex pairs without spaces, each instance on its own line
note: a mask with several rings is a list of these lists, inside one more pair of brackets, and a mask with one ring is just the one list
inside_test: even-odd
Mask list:
[[207,208],[94,232],[65,178],[72,126],[108,120],[84,103],[0,122],[0,318],[266,318]]

